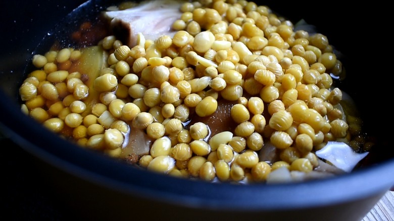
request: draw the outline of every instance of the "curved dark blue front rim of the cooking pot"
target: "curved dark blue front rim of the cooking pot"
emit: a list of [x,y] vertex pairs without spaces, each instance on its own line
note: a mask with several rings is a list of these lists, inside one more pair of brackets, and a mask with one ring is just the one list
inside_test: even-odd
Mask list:
[[0,128],[25,151],[95,185],[155,201],[220,210],[297,209],[358,200],[385,192],[394,183],[390,176],[394,159],[350,174],[299,183],[218,184],[176,178],[80,148],[18,111],[2,91],[0,102],[9,104],[0,111]]

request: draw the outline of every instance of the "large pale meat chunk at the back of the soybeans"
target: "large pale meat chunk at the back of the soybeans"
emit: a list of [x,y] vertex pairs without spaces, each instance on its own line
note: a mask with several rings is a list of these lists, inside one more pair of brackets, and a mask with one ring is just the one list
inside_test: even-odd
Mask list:
[[151,40],[162,35],[173,37],[176,31],[172,24],[182,15],[181,3],[183,1],[179,0],[145,1],[130,9],[105,14],[111,19],[111,28],[117,38],[131,48],[136,45],[138,33]]

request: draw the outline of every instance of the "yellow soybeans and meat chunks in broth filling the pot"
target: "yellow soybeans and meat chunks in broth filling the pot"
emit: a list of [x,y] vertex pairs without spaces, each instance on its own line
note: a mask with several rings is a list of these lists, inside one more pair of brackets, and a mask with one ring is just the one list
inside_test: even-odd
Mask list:
[[[172,176],[275,183],[350,172],[373,145],[335,87],[327,37],[267,6],[125,2],[101,19],[72,34],[78,47],[35,54],[19,89],[23,112],[84,148]],[[338,166],[350,156],[330,146],[357,160]]]

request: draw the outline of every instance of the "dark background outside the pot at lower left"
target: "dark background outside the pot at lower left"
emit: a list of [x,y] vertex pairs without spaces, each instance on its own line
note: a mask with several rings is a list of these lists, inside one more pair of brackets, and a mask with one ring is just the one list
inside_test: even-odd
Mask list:
[[40,164],[12,140],[1,137],[1,211],[8,220],[77,220],[58,197]]

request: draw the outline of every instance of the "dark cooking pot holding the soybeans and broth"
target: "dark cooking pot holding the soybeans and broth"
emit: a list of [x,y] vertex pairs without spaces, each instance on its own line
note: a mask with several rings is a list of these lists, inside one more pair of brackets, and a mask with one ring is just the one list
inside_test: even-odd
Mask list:
[[[81,219],[172,220],[355,220],[364,217],[394,184],[394,156],[388,130],[383,129],[381,101],[389,82],[375,82],[362,55],[364,24],[353,20],[358,11],[339,2],[327,5],[257,2],[294,23],[305,19],[318,27],[344,55],[347,77],[340,88],[350,94],[364,119],[376,149],[364,167],[351,174],[291,184],[218,184],[178,179],[132,168],[82,149],[48,132],[20,112],[18,88],[32,52],[45,51],[51,39],[78,27],[111,1],[3,1],[0,14],[0,128],[2,133],[39,159],[47,182],[57,190],[69,214]],[[82,4],[77,8],[80,4]],[[102,7],[103,6],[103,7]],[[77,8],[76,10],[73,10]],[[373,11],[371,8],[365,11]],[[69,14],[70,13],[70,14]],[[370,15],[373,17],[373,15]],[[350,19],[346,19],[350,18]],[[59,23],[60,22],[60,23]],[[56,24],[58,24],[56,26]],[[52,43],[52,42],[51,42]],[[47,46],[47,47],[46,47]],[[46,48],[45,48],[46,47]],[[383,107],[384,108],[384,107]],[[23,162],[21,162],[23,165]]]

